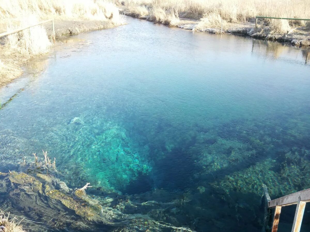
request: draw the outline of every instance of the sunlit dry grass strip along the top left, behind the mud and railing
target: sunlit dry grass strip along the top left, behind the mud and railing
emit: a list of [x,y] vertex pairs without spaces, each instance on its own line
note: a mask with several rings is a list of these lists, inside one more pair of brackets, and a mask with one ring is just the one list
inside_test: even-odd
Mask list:
[[23,20],[30,15],[40,19],[111,19],[119,23],[118,8],[108,0],[0,0],[0,19]]

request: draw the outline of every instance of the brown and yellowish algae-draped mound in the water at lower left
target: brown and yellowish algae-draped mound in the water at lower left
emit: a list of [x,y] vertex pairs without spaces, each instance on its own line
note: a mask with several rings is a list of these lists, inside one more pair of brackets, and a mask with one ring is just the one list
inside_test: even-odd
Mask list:
[[[150,209],[162,210],[162,203],[137,204],[121,195],[115,199],[94,198],[84,187],[73,191],[55,177],[58,171],[51,163],[42,163],[36,156],[34,163],[22,162],[20,166],[24,172],[0,172],[0,208],[13,212],[11,215],[18,220],[24,218],[23,226],[31,231],[194,231],[137,213],[150,212],[158,217]],[[132,214],[128,214],[129,208],[135,209]]]

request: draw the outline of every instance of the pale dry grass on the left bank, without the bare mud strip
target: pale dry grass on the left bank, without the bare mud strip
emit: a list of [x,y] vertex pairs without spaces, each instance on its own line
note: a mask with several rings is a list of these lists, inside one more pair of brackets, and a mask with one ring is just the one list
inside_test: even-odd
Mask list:
[[[124,23],[118,7],[109,0],[0,0],[0,33],[51,18],[58,23],[86,19]],[[47,53],[51,47],[43,26],[9,35],[0,42],[0,86],[19,76],[22,72],[18,67],[26,60]]]

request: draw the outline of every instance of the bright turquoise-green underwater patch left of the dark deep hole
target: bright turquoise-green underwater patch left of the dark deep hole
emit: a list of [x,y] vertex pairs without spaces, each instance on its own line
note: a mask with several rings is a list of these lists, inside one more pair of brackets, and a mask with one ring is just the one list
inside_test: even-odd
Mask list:
[[[76,169],[76,172],[95,180],[97,186],[107,191],[123,189],[140,174],[148,174],[152,170],[146,159],[147,150],[142,151],[141,155],[126,130],[115,123],[98,122],[92,127],[67,124],[49,133],[47,138],[55,144],[54,141],[59,143],[59,137],[64,134],[70,135],[74,141],[63,148],[71,154],[66,166],[72,172],[76,167],[73,164],[78,163],[82,168]],[[63,147],[64,144],[61,145]]]

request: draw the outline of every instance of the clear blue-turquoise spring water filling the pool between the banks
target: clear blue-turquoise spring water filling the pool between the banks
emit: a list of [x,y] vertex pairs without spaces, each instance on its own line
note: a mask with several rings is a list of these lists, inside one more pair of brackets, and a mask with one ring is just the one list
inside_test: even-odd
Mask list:
[[160,202],[139,209],[154,220],[260,231],[262,183],[272,199],[310,186],[309,50],[127,22],[65,39],[0,89],[2,104],[16,93],[0,171],[44,149],[70,187]]

